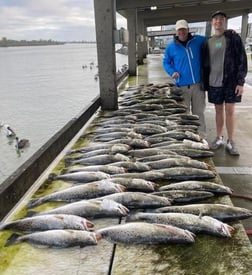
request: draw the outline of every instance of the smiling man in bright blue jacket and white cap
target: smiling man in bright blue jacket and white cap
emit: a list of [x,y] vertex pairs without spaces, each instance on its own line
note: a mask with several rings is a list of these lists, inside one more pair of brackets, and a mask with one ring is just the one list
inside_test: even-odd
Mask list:
[[188,22],[184,19],[176,22],[176,36],[166,49],[163,59],[165,71],[174,79],[183,91],[188,112],[199,116],[199,133],[206,138],[204,111],[205,92],[200,89],[201,49],[205,36],[192,35]]

